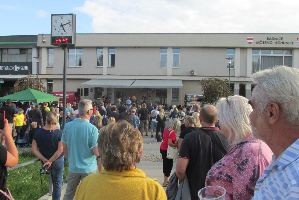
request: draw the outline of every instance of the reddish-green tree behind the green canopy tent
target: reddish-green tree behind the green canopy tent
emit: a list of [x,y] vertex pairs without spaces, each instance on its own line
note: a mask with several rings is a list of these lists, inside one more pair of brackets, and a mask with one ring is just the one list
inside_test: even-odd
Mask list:
[[44,86],[42,80],[29,74],[25,78],[18,79],[15,82],[13,85],[13,93],[17,93],[29,88],[41,92],[47,92],[47,88]]

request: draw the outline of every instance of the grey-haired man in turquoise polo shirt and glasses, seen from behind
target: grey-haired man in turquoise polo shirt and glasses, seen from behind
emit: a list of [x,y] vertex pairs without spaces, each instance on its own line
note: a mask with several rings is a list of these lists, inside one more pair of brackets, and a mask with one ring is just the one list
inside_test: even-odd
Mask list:
[[62,147],[68,160],[68,186],[66,199],[74,199],[80,181],[97,172],[97,128],[89,122],[93,107],[91,100],[84,99],[78,103],[79,118],[65,124],[62,133]]

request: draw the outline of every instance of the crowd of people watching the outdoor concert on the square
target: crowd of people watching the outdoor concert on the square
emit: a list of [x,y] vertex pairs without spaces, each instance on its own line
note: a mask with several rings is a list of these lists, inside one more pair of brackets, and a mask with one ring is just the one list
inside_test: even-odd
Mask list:
[[[8,99],[0,108],[6,112],[0,130],[6,145],[0,145],[0,189],[8,193],[6,167],[18,162],[16,146],[32,145],[53,174],[53,199],[61,196],[65,160],[63,199],[174,199],[183,190],[197,200],[198,191],[208,186],[223,187],[225,199],[299,199],[299,70],[274,67],[252,79],[251,100],[235,95],[215,106],[173,105],[167,127],[162,106],[137,106],[136,98],[125,101],[122,93],[116,105],[81,100],[67,104],[66,113],[62,105],[49,108],[46,103],[16,111]],[[67,123],[61,130],[64,115]],[[136,168],[149,130],[154,142],[161,142],[161,184]],[[170,147],[178,151],[173,176],[189,184],[178,189],[176,183],[176,192],[166,194],[163,187],[173,188],[175,182],[170,181]],[[5,199],[1,193],[0,199]]]

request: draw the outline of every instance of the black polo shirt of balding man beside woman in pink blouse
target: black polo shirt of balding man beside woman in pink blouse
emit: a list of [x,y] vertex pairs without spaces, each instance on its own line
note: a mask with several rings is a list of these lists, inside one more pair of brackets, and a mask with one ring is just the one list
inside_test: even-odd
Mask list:
[[222,153],[211,138],[203,131],[209,132],[226,151],[231,147],[218,127],[201,127],[188,133],[182,142],[179,157],[188,159],[186,175],[189,181],[192,200],[197,200],[197,192],[205,187],[205,178],[211,167],[222,158]]

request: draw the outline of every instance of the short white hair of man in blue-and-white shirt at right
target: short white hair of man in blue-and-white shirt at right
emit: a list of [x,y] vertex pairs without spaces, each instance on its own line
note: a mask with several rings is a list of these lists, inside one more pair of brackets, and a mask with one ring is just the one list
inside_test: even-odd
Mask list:
[[281,117],[293,126],[299,124],[299,70],[278,66],[252,75],[256,84],[252,92],[259,112],[271,102],[277,103]]

